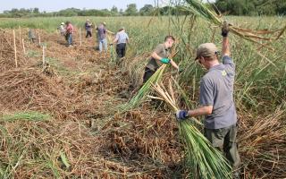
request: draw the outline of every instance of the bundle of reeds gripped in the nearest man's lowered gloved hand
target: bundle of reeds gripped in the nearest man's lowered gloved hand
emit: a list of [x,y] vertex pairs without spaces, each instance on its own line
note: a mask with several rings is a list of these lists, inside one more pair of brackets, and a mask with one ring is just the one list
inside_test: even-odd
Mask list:
[[[169,87],[171,94],[162,84],[156,83],[152,87],[173,112],[179,109],[171,85]],[[192,174],[199,175],[200,178],[231,178],[231,166],[223,154],[214,149],[206,137],[199,132],[198,128],[190,120],[184,120],[178,124],[182,141],[185,144],[187,167]]]

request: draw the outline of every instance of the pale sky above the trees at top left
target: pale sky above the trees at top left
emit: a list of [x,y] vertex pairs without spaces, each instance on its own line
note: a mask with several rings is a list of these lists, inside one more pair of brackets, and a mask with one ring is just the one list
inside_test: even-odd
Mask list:
[[0,0],[0,13],[13,8],[38,7],[40,12],[55,12],[75,7],[78,9],[111,9],[114,5],[118,10],[126,9],[127,4],[137,4],[141,8],[144,4],[154,5],[154,0]]

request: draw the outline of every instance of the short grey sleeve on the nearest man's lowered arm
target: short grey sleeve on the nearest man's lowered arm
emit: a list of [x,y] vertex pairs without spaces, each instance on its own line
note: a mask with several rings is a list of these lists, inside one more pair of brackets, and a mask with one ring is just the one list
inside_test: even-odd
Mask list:
[[199,104],[201,106],[214,105],[214,87],[212,82],[205,78],[200,81]]

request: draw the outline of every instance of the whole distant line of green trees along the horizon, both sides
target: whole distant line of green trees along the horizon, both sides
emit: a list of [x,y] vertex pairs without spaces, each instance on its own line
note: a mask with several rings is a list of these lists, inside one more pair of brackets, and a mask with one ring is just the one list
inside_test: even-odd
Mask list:
[[[221,13],[230,15],[286,15],[286,0],[216,0],[209,4]],[[188,14],[180,6],[154,7],[151,4],[145,4],[138,9],[136,4],[128,4],[125,11],[113,7],[109,9],[77,9],[68,8],[59,12],[46,13],[39,12],[38,8],[31,9],[12,9],[0,13],[1,17],[20,18],[20,17],[54,17],[54,16],[149,16],[149,15],[167,15],[167,14]]]

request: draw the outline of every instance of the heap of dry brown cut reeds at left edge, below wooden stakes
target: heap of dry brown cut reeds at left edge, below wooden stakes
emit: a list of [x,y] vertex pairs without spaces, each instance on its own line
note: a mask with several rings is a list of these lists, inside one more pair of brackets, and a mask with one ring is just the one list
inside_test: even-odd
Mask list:
[[0,84],[0,103],[4,110],[65,111],[68,99],[64,98],[63,85],[40,70],[18,68],[1,72]]

